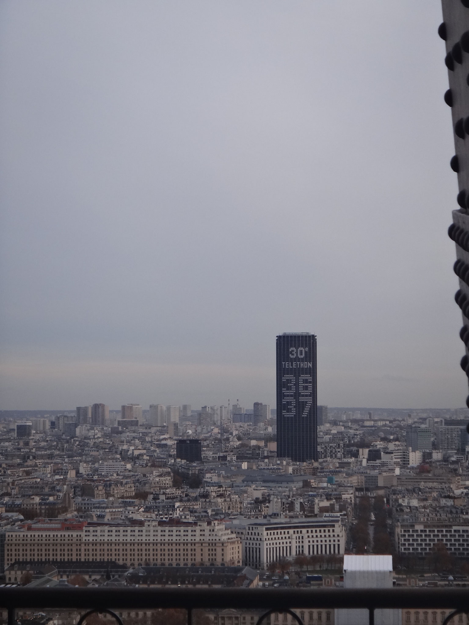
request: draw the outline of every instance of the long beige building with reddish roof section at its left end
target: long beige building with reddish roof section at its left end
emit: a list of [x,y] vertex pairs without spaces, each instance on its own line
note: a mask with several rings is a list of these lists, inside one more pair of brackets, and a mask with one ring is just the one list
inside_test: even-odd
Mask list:
[[217,521],[124,525],[48,519],[6,531],[5,566],[15,561],[237,566],[241,540]]

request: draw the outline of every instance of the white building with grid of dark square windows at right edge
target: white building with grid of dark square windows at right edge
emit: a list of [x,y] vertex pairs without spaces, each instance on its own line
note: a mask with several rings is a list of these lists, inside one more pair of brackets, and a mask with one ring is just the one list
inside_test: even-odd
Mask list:
[[443,542],[453,556],[469,556],[468,523],[396,523],[396,548],[405,555],[428,556],[436,542]]

